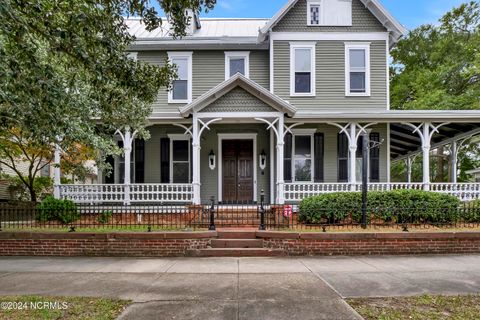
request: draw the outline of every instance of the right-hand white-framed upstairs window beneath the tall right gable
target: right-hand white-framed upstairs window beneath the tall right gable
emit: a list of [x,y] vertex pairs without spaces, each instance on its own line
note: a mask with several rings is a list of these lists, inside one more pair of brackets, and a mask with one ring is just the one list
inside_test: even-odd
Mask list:
[[345,95],[370,96],[370,44],[345,44]]

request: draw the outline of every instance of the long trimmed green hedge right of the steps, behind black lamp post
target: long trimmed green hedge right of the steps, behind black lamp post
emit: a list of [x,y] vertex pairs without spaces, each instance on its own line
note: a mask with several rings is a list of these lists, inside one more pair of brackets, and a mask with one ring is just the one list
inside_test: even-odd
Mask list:
[[[448,223],[460,213],[458,198],[422,190],[373,191],[367,203],[367,219],[386,223]],[[304,223],[340,223],[347,218],[361,222],[361,193],[327,193],[300,203],[299,219]]]

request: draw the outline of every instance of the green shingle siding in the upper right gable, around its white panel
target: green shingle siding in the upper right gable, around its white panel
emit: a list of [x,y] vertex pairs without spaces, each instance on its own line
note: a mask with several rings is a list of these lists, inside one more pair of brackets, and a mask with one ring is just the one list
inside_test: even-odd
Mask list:
[[273,28],[274,32],[385,32],[385,27],[360,0],[352,1],[352,26],[307,26],[307,1],[299,0]]

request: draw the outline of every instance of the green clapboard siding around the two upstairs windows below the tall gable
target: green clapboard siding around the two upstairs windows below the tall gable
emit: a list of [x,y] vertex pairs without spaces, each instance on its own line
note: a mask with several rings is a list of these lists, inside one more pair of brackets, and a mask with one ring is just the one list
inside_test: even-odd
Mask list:
[[[349,41],[351,42],[351,41]],[[316,44],[316,96],[290,97],[290,41],[274,42],[274,90],[299,110],[386,109],[386,42],[372,41],[370,47],[370,97],[345,96],[345,42]]]

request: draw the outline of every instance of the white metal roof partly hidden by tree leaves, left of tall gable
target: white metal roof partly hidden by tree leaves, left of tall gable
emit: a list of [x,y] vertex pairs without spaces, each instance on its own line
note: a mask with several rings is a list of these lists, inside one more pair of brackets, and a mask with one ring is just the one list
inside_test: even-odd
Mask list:
[[[268,19],[240,19],[240,18],[200,18],[201,29],[196,30],[193,35],[184,37],[183,39],[211,39],[211,38],[227,38],[239,37],[246,38],[258,37],[259,29],[265,26]],[[151,32],[145,29],[145,25],[140,19],[126,19],[130,33],[137,40],[160,40],[171,39],[169,35],[170,25],[167,19],[163,19],[160,28]]]

